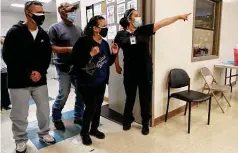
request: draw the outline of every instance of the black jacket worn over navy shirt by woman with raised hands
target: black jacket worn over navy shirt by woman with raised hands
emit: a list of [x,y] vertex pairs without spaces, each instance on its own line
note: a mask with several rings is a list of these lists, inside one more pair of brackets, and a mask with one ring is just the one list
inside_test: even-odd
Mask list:
[[[102,40],[106,45],[106,53],[108,67],[105,77],[105,83],[109,81],[110,67],[115,62],[116,56],[110,53],[110,47],[105,40]],[[93,38],[89,36],[83,36],[78,39],[73,47],[73,51],[70,55],[70,64],[72,69],[70,74],[78,78],[78,83],[81,85],[95,85],[95,80],[98,78],[96,71],[100,68],[97,67],[98,62],[104,54],[99,53],[98,55],[91,57],[90,51],[93,47],[100,46]]]

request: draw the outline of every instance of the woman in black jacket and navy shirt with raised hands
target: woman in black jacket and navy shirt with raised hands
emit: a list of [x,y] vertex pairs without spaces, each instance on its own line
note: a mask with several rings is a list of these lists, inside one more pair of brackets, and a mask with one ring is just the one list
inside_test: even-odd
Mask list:
[[116,44],[112,44],[111,53],[107,41],[102,39],[107,32],[106,20],[102,16],[92,17],[85,27],[84,36],[78,39],[71,54],[71,74],[76,77],[77,89],[86,106],[81,130],[85,145],[92,144],[89,134],[98,139],[105,138],[104,133],[98,130],[101,105],[109,79],[109,66],[114,63],[118,53]]

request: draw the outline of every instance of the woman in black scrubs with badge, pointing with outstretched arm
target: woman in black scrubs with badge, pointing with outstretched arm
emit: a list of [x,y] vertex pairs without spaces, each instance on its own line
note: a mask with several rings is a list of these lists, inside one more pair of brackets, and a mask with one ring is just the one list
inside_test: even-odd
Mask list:
[[[179,15],[164,19],[154,24],[142,25],[137,10],[127,10],[120,21],[124,30],[119,31],[114,42],[123,50],[124,54],[124,87],[126,104],[124,109],[123,130],[129,130],[134,121],[132,110],[135,103],[137,87],[142,117],[142,134],[149,134],[151,119],[151,89],[152,89],[152,59],[149,53],[150,37],[160,28],[170,25],[177,20],[188,20],[190,14]],[[117,58],[115,62],[117,73],[121,74],[121,67]]]

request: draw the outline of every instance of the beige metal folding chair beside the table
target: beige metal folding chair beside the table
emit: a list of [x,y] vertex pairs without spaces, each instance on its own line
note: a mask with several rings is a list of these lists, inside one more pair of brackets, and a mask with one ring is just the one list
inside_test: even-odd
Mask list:
[[[226,85],[219,85],[217,83],[217,81],[215,80],[214,76],[212,75],[211,71],[207,67],[201,68],[200,72],[201,72],[203,79],[205,81],[205,84],[203,86],[203,91],[208,91],[208,94],[211,94],[215,98],[218,106],[220,107],[221,111],[224,113],[224,110],[221,107],[221,104],[219,103],[219,98],[217,97],[217,95],[221,94],[220,99],[224,98],[226,100],[226,102],[228,103],[228,105],[231,107],[230,102],[224,95],[225,92],[230,91],[230,87],[228,87]],[[209,78],[212,79],[211,83],[209,83]]]

